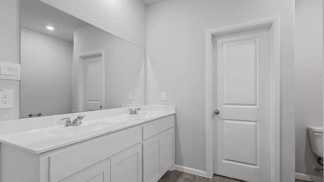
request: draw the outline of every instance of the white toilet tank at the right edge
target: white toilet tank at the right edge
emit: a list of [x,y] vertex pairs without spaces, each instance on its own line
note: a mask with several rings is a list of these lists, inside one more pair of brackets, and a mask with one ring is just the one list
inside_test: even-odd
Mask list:
[[323,157],[323,126],[307,126],[310,146],[314,154]]

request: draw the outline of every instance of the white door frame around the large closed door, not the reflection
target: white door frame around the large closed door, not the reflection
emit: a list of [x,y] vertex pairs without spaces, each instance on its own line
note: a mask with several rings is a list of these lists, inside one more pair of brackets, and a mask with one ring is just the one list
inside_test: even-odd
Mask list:
[[270,181],[280,181],[280,17],[206,30],[206,176],[214,173],[213,37],[270,28]]

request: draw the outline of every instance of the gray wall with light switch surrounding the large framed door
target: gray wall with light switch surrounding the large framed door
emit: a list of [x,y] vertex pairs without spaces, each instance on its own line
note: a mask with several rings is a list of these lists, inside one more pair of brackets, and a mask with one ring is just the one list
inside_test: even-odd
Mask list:
[[[177,106],[176,164],[206,171],[205,32],[280,16],[281,181],[294,181],[294,1],[166,0],[147,7],[148,104]],[[167,101],[160,93],[167,92]]]

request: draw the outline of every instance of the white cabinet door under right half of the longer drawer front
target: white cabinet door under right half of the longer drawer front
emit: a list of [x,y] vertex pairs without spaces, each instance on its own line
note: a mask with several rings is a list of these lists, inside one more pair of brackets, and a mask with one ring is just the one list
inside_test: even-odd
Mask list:
[[127,149],[112,157],[111,181],[142,182],[142,152],[141,145]]

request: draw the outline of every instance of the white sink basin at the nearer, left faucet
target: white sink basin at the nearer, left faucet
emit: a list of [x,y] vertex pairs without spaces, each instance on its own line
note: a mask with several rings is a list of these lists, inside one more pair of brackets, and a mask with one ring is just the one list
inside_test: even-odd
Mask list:
[[76,136],[76,135],[96,131],[99,129],[113,127],[116,125],[117,124],[115,124],[115,123],[97,122],[97,123],[84,124],[84,125],[79,125],[79,126],[64,127],[62,129],[51,131],[51,133],[58,134],[60,136]]

